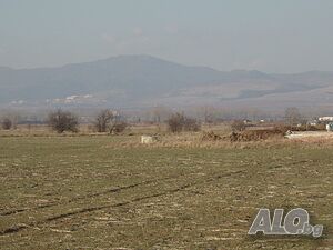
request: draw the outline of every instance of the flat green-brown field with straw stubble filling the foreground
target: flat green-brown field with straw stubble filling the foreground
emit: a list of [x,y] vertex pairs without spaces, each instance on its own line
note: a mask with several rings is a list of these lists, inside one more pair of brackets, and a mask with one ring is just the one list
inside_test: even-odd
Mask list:
[[[139,141],[0,137],[0,249],[333,249],[332,143]],[[296,207],[322,238],[246,236]]]

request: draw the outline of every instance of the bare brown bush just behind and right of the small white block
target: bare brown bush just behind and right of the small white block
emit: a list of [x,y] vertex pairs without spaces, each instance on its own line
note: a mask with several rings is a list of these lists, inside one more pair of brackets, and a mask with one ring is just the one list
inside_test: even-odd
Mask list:
[[200,123],[192,118],[188,118],[182,113],[174,113],[168,120],[168,128],[171,132],[181,131],[199,131]]

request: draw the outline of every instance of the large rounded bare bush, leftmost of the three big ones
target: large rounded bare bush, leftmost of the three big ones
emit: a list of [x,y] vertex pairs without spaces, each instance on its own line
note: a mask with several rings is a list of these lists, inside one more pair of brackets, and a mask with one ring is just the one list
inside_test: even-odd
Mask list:
[[79,131],[78,117],[69,111],[62,111],[61,109],[49,114],[48,123],[54,131],[59,133],[62,133],[64,131]]

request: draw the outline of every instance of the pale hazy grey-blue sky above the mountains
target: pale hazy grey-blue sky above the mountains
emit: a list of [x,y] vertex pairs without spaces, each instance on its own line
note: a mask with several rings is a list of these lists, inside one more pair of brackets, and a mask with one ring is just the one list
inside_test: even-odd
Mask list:
[[132,53],[220,70],[333,70],[333,1],[0,0],[0,66]]

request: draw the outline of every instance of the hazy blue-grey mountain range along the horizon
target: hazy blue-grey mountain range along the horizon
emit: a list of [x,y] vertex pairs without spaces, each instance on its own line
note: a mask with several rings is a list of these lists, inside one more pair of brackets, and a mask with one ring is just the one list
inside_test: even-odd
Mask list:
[[333,72],[269,74],[120,56],[60,68],[0,67],[1,107],[332,106]]

